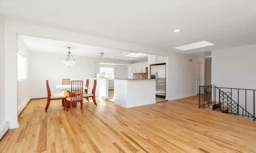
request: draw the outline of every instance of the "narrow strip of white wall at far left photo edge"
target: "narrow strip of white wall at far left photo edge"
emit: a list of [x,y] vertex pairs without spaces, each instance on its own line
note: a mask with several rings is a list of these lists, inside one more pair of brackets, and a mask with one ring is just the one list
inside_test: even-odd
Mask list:
[[4,19],[0,18],[0,128],[5,123]]

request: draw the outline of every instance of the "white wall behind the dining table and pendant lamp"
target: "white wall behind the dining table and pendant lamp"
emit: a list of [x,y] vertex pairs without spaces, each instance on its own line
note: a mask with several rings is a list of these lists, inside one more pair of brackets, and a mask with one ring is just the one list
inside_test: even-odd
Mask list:
[[[46,97],[46,80],[49,80],[49,87],[52,93],[61,92],[56,89],[56,85],[62,84],[62,79],[83,80],[89,79],[89,93],[93,88],[93,80],[95,77],[95,62],[117,64],[126,64],[124,60],[113,60],[107,58],[93,58],[76,56],[76,64],[71,67],[66,66],[61,61],[66,59],[65,54],[52,54],[46,52],[30,52],[28,76],[30,78],[31,96],[32,98]],[[97,89],[96,89],[97,90]]]

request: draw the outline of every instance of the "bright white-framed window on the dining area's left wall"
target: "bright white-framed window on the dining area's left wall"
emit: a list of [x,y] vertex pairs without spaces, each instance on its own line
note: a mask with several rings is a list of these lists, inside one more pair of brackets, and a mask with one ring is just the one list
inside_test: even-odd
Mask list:
[[22,53],[18,52],[18,80],[27,79],[27,57]]

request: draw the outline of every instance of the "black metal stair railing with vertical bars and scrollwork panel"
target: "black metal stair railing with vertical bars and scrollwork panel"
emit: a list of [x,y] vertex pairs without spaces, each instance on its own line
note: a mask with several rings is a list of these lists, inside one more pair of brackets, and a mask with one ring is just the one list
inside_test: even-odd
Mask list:
[[255,120],[255,90],[215,85],[199,86],[199,108],[218,110]]

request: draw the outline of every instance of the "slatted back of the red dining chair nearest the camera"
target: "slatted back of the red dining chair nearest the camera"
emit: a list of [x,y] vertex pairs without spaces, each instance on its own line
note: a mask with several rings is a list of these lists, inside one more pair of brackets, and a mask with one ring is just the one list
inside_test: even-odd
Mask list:
[[71,81],[71,104],[83,100],[83,81]]

